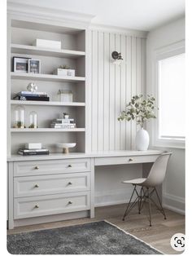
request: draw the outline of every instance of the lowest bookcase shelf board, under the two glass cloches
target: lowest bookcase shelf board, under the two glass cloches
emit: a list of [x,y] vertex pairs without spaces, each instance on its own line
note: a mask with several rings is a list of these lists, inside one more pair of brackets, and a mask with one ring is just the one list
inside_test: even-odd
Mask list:
[[59,128],[11,128],[11,132],[78,132],[85,131],[85,128],[59,129]]

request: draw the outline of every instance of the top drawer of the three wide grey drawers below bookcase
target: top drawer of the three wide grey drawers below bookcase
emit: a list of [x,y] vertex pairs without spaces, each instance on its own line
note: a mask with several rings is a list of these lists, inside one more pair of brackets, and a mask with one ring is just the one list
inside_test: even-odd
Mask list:
[[14,162],[14,176],[75,173],[89,169],[89,159],[85,158]]

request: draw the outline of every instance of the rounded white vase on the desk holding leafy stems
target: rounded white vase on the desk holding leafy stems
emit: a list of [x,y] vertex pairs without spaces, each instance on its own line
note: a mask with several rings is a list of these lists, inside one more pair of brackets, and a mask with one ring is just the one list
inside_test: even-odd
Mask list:
[[141,128],[136,134],[136,148],[140,151],[145,151],[149,147],[150,136],[146,130]]

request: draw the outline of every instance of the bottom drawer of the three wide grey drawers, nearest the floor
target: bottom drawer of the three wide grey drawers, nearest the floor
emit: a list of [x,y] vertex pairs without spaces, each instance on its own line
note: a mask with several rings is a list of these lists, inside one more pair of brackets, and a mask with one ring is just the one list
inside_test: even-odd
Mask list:
[[14,218],[31,218],[90,209],[89,192],[14,199]]

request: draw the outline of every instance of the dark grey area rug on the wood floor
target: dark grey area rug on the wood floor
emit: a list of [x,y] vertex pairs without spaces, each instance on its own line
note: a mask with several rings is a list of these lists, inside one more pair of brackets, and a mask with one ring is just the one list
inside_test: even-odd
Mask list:
[[7,249],[10,254],[160,254],[105,221],[8,235]]

